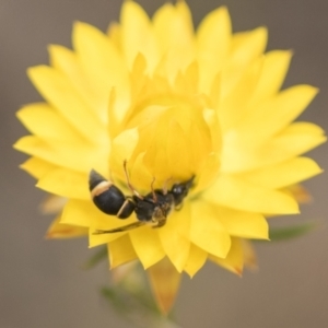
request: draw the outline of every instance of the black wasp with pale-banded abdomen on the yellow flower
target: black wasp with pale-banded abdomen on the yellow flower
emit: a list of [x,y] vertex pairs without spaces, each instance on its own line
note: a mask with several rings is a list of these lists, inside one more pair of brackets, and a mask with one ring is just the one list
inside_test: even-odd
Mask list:
[[106,180],[101,174],[92,169],[89,176],[89,189],[94,204],[108,215],[116,215],[118,219],[127,219],[132,212],[138,221],[131,224],[113,229],[96,230],[94,234],[107,234],[128,231],[144,224],[152,224],[152,227],[165,225],[167,215],[173,209],[179,209],[189,189],[192,187],[192,176],[185,183],[174,184],[169,190],[166,188],[154,189],[151,184],[151,192],[140,195],[130,184],[127,173],[127,162],[124,162],[124,169],[127,185],[132,196],[125,196],[124,192],[110,180]]

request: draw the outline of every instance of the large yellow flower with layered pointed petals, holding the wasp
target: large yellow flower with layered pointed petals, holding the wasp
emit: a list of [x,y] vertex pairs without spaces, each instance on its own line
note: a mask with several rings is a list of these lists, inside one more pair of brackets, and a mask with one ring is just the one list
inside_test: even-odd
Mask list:
[[[139,259],[157,291],[207,259],[241,274],[254,260],[247,239],[268,239],[266,218],[298,213],[292,187],[320,173],[300,155],[325,142],[323,130],[293,122],[317,90],[280,91],[291,51],[265,52],[265,27],[233,34],[224,7],[195,32],[184,1],[152,20],[126,1],[107,34],[78,22],[72,39],[73,50],[50,46],[50,66],[28,70],[45,103],[17,114],[32,132],[15,144],[32,156],[22,167],[68,199],[49,236],[89,231],[112,268]],[[95,169],[131,196],[125,161],[141,196],[194,177],[192,187],[160,229],[94,234],[137,221],[106,215],[87,188]]]

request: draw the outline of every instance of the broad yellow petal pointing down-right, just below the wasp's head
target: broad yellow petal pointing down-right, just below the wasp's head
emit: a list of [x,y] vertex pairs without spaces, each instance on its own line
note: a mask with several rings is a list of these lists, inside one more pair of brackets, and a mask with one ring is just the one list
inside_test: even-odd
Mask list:
[[230,235],[210,203],[191,202],[190,241],[203,250],[224,258],[229,253]]

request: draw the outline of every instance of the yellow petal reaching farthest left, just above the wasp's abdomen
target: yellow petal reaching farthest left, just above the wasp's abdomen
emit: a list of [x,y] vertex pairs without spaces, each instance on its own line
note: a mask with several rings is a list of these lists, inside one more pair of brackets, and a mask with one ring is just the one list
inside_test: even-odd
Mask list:
[[[44,141],[34,136],[21,138],[14,149],[72,171],[89,173],[91,168],[103,175],[108,172],[108,149],[93,147],[87,143],[63,142],[59,140]],[[92,154],[92,155],[90,155]]]

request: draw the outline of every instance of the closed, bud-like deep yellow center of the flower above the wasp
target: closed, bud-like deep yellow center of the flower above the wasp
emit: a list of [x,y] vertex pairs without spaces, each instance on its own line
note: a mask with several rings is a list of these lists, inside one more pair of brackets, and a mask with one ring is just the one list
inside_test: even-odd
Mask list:
[[212,152],[204,108],[188,98],[160,95],[143,101],[127,122],[128,129],[134,127],[139,141],[129,164],[143,164],[157,187],[197,176]]

